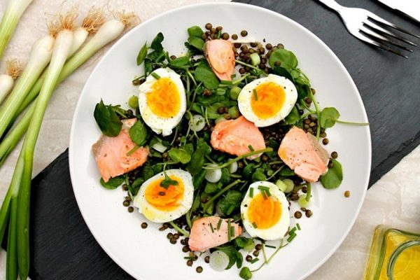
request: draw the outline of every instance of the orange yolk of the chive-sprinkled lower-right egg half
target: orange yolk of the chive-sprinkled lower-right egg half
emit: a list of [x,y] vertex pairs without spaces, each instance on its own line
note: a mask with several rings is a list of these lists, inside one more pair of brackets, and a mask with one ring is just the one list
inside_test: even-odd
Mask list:
[[279,222],[281,216],[281,204],[273,197],[267,197],[258,193],[248,205],[248,218],[253,226],[259,229],[271,228]]

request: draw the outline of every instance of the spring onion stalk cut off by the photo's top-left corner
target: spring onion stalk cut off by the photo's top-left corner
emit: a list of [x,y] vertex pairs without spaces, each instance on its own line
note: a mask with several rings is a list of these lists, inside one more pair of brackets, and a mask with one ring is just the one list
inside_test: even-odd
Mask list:
[[33,0],[9,0],[0,23],[0,58],[15,31],[16,25]]

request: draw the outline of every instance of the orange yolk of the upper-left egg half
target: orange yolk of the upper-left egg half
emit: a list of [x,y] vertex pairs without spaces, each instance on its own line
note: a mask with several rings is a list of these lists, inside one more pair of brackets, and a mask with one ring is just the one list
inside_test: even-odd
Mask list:
[[146,94],[148,108],[158,117],[172,118],[179,112],[179,90],[170,78],[159,78]]

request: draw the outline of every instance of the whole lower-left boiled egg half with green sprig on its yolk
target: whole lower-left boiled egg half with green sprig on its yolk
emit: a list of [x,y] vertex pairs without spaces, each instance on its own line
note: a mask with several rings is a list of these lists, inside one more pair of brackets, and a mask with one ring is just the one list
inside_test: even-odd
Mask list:
[[191,174],[181,169],[170,169],[166,174],[172,181],[176,181],[174,185],[161,186],[165,180],[165,174],[161,172],[144,182],[134,198],[134,207],[155,223],[174,221],[186,214],[193,205]]

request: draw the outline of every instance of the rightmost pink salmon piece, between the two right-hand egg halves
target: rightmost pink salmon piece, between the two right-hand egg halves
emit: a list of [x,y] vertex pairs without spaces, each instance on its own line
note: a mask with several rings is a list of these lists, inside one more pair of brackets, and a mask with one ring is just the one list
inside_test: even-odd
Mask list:
[[279,157],[297,176],[308,182],[318,181],[328,171],[328,152],[316,137],[292,127],[281,141]]

